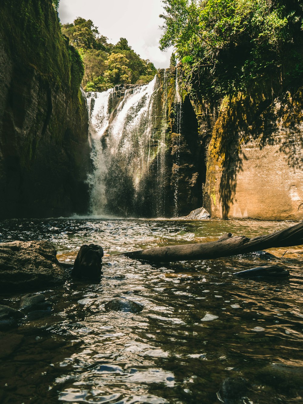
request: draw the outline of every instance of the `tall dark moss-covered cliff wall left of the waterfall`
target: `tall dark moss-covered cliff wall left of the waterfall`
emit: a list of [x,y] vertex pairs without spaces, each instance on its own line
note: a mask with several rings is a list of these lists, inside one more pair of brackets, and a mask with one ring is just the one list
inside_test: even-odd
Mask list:
[[0,217],[82,213],[89,166],[83,66],[52,2],[0,5]]

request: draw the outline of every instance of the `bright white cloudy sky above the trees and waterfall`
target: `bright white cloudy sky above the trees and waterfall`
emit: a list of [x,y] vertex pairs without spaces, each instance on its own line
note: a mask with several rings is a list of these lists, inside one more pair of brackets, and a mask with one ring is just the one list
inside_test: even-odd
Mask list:
[[60,0],[59,5],[62,24],[72,23],[76,17],[90,19],[109,42],[116,44],[120,37],[126,38],[133,50],[156,68],[169,67],[172,52],[159,49],[162,13],[162,0]]

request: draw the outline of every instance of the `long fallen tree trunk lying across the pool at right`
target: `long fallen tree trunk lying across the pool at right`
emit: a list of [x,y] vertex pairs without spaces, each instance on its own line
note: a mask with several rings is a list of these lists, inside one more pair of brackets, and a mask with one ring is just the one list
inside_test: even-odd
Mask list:
[[266,250],[267,248],[290,247],[301,244],[303,244],[303,222],[266,236],[247,238],[245,236],[232,236],[228,233],[213,242],[147,248],[146,250],[126,252],[123,255],[144,261],[172,262],[229,257]]

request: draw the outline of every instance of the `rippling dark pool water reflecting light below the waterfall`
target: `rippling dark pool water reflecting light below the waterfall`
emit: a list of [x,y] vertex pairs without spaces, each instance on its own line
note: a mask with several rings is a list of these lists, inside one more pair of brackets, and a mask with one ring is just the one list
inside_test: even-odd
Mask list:
[[[60,261],[73,262],[84,243],[100,244],[106,254],[100,284],[42,286],[39,291],[53,302],[51,315],[2,330],[15,345],[0,362],[0,402],[219,403],[217,391],[228,377],[248,380],[244,398],[235,402],[302,402],[300,247],[289,248],[282,259],[246,255],[165,265],[113,256],[146,246],[215,240],[228,231],[256,236],[292,224],[0,222],[1,241],[50,240]],[[281,257],[285,251],[271,252]],[[290,278],[265,282],[233,276],[268,263],[287,265]],[[21,295],[2,295],[0,303],[18,308]],[[117,297],[143,305],[143,311],[105,311]],[[290,367],[277,372],[274,363]]]

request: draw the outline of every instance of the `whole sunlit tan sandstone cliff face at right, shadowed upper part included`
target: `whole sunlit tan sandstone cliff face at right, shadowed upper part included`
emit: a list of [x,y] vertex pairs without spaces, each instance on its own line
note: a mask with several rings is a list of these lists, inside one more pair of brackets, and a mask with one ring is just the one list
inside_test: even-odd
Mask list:
[[207,149],[213,218],[303,219],[302,93],[225,99]]

